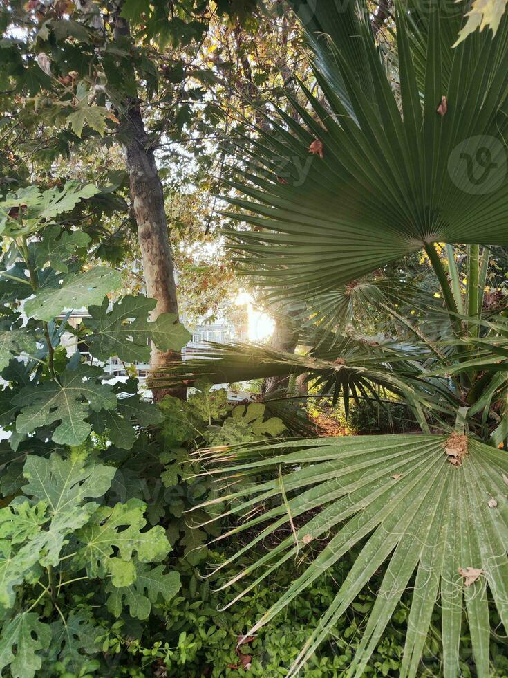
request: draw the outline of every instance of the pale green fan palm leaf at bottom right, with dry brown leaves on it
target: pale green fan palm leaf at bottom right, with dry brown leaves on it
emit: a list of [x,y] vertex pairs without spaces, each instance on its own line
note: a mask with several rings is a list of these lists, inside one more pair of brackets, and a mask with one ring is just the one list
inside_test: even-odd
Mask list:
[[[505,452],[459,435],[415,435],[295,441],[230,451],[227,461],[223,455],[222,450],[215,453],[216,473],[248,481],[251,475],[272,470],[274,479],[247,486],[244,482],[241,491],[221,497],[229,500],[225,515],[236,517],[237,526],[218,540],[242,531],[252,535],[256,526],[259,532],[217,570],[232,566],[274,530],[292,526],[285,540],[223,585],[250,580],[227,607],[284,562],[299,556],[310,560],[247,636],[304,594],[350,549],[361,546],[288,675],[297,674],[383,567],[382,585],[348,675],[364,675],[399,599],[409,589],[413,597],[401,677],[417,675],[436,606],[441,609],[444,676],[458,675],[463,601],[477,675],[490,675],[489,596],[508,630]],[[297,517],[300,526],[295,529]],[[323,542],[324,547],[313,548]],[[471,582],[464,576],[467,572],[473,573]]]

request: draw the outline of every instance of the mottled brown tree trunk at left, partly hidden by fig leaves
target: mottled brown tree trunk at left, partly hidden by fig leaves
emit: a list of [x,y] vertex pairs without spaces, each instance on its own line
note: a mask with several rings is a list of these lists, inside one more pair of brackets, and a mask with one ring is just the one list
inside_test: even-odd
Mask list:
[[[115,39],[129,37],[129,23],[120,17],[121,5],[115,12]],[[121,111],[120,138],[125,152],[131,205],[138,224],[138,240],[143,260],[144,281],[147,296],[157,305],[151,313],[156,320],[161,313],[173,313],[178,322],[173,253],[169,242],[164,192],[137,98],[129,97]],[[163,377],[164,367],[180,358],[175,351],[164,352],[152,346],[150,358],[151,376]],[[162,371],[161,371],[162,370]],[[185,399],[187,390],[153,390],[153,400],[158,402],[171,394]]]

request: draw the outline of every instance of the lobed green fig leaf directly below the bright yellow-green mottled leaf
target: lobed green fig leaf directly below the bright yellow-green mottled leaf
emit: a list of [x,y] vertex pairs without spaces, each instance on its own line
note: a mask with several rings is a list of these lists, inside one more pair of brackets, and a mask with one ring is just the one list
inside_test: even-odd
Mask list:
[[137,564],[136,576],[129,586],[106,585],[109,592],[107,607],[111,614],[120,617],[124,607],[137,619],[148,619],[151,606],[158,601],[168,603],[180,590],[180,574],[176,571],[164,574],[164,565],[151,568]]

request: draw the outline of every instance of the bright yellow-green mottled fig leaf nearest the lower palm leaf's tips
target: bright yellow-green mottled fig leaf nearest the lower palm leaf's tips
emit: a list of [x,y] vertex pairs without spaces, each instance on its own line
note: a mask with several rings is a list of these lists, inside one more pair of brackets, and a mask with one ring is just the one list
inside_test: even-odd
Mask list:
[[[80,547],[77,562],[86,568],[89,577],[104,578],[112,568],[119,575],[118,558],[129,561],[137,554],[140,562],[159,562],[169,553],[171,546],[162,526],[142,532],[147,520],[147,505],[138,499],[126,504],[100,506],[91,520],[75,534]],[[113,565],[112,565],[113,561]]]

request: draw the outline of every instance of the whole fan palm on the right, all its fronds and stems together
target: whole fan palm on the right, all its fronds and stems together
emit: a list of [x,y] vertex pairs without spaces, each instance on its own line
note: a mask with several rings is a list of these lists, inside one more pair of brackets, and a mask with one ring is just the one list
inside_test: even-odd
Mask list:
[[[396,0],[392,80],[365,0],[291,1],[314,51],[319,91],[301,84],[305,104],[288,94],[298,120],[277,109],[270,129],[239,146],[227,214],[247,230],[227,235],[245,275],[272,299],[299,300],[310,319],[300,342],[311,349],[293,356],[214,347],[215,355],[187,362],[180,378],[306,373],[346,407],[350,397],[375,398],[384,388],[413,408],[424,434],[211,450],[217,473],[257,481],[226,497],[227,515],[245,522],[223,538],[260,531],[219,569],[286,525],[288,538],[225,586],[252,576],[238,599],[288,560],[309,559],[252,634],[358,547],[289,675],[382,569],[348,675],[364,675],[397,602],[412,590],[401,677],[417,675],[439,607],[444,677],[456,678],[465,606],[476,675],[487,678],[490,601],[508,631],[508,457],[477,436],[494,445],[508,439],[508,418],[493,406],[507,387],[508,332],[502,316],[484,313],[489,247],[480,253],[478,243],[508,244],[508,17],[495,37],[477,32],[453,47],[462,19],[449,3],[424,12]],[[467,245],[467,283],[453,248],[436,248],[443,243]],[[422,249],[446,308],[441,299],[427,303],[430,312],[420,309],[412,322],[408,295],[393,287],[397,308],[393,291],[366,276]],[[377,304],[392,313],[411,342],[334,332],[355,316],[355,297],[358,309]],[[431,417],[433,432],[444,435],[430,435]]]

